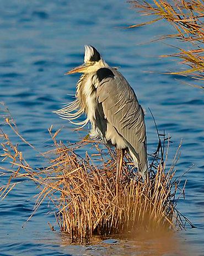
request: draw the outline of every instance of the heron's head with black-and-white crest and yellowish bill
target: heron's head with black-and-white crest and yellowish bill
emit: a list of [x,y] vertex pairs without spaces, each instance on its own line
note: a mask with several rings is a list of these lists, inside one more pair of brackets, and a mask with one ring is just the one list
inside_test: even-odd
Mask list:
[[65,73],[65,75],[74,73],[91,73],[95,72],[100,67],[107,66],[101,58],[100,53],[91,45],[84,45],[84,64],[74,67],[74,69]]

